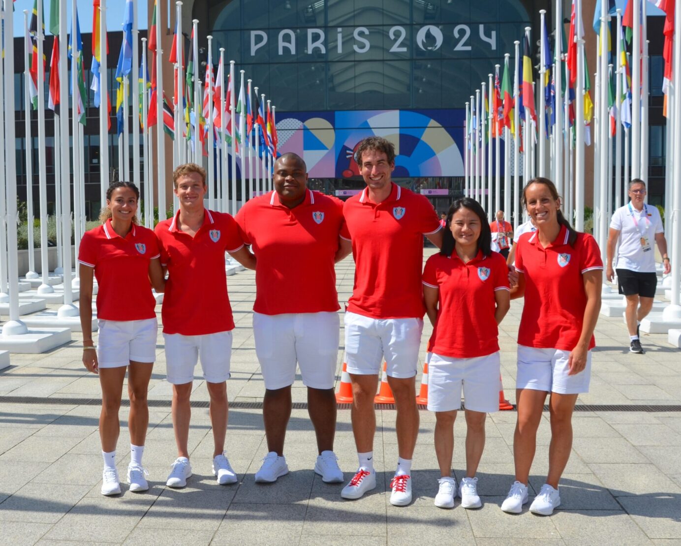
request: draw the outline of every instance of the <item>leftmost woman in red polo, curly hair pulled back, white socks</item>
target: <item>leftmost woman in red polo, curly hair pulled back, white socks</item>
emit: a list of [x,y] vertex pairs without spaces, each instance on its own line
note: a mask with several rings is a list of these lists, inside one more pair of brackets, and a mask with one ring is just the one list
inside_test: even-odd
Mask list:
[[[82,362],[99,374],[101,438],[104,472],[101,494],[121,493],[116,470],[118,408],[125,370],[128,371],[131,460],[127,479],[131,491],[149,488],[142,468],[144,438],[149,421],[146,391],[156,356],[156,302],[151,286],[163,291],[165,281],[159,246],[151,229],[137,224],[140,191],[132,182],[114,182],[106,192],[102,224],[87,231],[80,242],[80,324]],[[97,278],[98,346],[92,337],[93,276]],[[151,280],[151,283],[150,283]]]

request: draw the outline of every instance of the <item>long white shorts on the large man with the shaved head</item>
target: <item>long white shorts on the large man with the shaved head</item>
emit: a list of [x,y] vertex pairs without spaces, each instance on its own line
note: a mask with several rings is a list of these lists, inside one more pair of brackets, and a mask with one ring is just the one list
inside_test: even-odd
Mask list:
[[306,387],[334,387],[340,337],[337,312],[283,315],[254,312],[253,337],[266,389],[293,385],[296,363]]

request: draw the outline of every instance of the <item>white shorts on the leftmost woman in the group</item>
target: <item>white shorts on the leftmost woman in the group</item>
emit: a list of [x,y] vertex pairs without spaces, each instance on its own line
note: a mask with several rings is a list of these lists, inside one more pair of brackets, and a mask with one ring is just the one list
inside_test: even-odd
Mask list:
[[121,368],[132,362],[156,359],[156,336],[159,325],[156,319],[141,321],[107,321],[99,319],[97,362],[99,368]]

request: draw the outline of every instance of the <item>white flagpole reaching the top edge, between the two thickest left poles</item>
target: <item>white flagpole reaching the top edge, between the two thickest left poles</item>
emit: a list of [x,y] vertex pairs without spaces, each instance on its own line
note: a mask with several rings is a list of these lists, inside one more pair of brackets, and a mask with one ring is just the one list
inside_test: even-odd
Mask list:
[[[37,25],[36,42],[37,42],[37,57],[38,57],[38,77],[37,77],[37,89],[38,89],[38,189],[39,189],[39,202],[40,202],[40,264],[41,264],[41,276],[42,285],[37,289],[39,294],[53,293],[54,289],[48,283],[49,275],[49,261],[47,253],[47,174],[46,174],[46,146],[45,146],[45,93],[42,92],[45,89],[45,70],[43,65],[43,41],[45,39],[45,33],[42,27],[43,20],[43,3],[38,2],[37,9],[37,20],[41,23]],[[106,99],[106,95],[102,95]],[[105,106],[106,108],[106,106]],[[103,153],[99,154],[100,157]]]

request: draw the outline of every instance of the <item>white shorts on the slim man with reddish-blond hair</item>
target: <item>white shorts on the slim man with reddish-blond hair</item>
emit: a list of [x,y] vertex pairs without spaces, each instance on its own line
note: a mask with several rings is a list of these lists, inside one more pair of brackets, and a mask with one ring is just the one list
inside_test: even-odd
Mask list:
[[194,367],[201,359],[204,379],[222,383],[229,379],[229,359],[232,357],[232,331],[202,336],[163,334],[165,338],[165,368],[168,383],[184,385],[194,379]]

